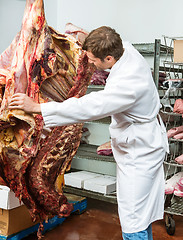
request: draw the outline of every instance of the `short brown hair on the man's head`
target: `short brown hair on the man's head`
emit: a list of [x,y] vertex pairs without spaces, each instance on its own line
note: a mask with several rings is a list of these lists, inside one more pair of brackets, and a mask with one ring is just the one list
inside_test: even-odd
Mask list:
[[108,55],[118,60],[124,51],[120,35],[107,26],[91,31],[83,43],[83,50],[90,51],[102,61]]

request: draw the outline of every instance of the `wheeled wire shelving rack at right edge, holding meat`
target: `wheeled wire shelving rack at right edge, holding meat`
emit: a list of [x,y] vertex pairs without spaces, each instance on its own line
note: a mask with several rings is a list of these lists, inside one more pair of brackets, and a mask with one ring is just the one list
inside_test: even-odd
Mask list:
[[[164,60],[164,71],[167,76],[168,86],[163,88],[164,96],[162,101],[162,114],[167,130],[179,127],[183,124],[182,114],[174,111],[174,104],[177,99],[183,99],[183,63],[173,62],[173,41],[175,38],[164,36],[167,54]],[[170,153],[166,155],[165,179],[173,177],[183,171],[183,165],[176,162],[176,157],[183,153],[183,140],[169,138]],[[175,233],[175,221],[173,215],[183,216],[183,198],[176,194],[165,195],[165,226],[169,235]]]

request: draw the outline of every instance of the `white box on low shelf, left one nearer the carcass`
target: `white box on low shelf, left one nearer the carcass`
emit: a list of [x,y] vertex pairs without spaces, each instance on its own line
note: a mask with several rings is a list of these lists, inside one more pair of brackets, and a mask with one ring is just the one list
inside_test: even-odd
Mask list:
[[101,176],[97,173],[87,172],[87,171],[78,171],[67,173],[64,175],[65,185],[75,187],[75,188],[84,188],[84,182],[88,179],[93,179]]

